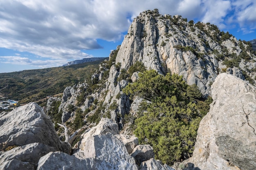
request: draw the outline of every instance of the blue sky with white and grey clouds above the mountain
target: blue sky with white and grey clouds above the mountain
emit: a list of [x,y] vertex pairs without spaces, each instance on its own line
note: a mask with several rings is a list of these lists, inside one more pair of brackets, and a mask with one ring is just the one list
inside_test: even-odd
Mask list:
[[255,0],[0,0],[0,73],[108,57],[133,18],[153,9],[256,39]]

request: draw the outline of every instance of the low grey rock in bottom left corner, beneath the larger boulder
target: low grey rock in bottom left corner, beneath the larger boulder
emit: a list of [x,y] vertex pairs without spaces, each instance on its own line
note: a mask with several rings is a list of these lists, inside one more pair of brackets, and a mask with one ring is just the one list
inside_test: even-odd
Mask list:
[[0,169],[22,169],[23,166],[27,167],[27,170],[36,169],[40,157],[54,151],[56,151],[54,147],[40,143],[18,146],[6,152],[2,151],[0,152]]

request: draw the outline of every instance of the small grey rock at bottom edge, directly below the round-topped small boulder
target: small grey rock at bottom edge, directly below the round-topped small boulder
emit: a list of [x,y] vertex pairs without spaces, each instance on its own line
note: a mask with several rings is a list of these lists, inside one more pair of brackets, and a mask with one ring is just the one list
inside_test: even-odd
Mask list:
[[163,164],[160,161],[157,161],[153,158],[149,159],[148,161],[144,161],[139,166],[140,170],[175,170],[170,166]]

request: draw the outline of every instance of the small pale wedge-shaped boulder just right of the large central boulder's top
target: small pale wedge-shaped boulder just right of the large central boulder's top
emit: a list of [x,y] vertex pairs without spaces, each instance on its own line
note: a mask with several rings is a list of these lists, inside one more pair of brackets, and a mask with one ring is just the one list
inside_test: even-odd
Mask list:
[[124,143],[129,154],[131,154],[132,150],[139,144],[139,139],[132,135],[119,134],[116,135],[116,137]]

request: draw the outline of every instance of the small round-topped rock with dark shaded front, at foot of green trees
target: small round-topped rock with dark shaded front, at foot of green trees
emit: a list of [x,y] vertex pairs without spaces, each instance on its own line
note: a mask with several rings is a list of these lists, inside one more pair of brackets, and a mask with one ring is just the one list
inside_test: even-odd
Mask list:
[[150,145],[138,145],[132,150],[131,154],[138,165],[150,158],[154,158],[154,155],[153,148]]

